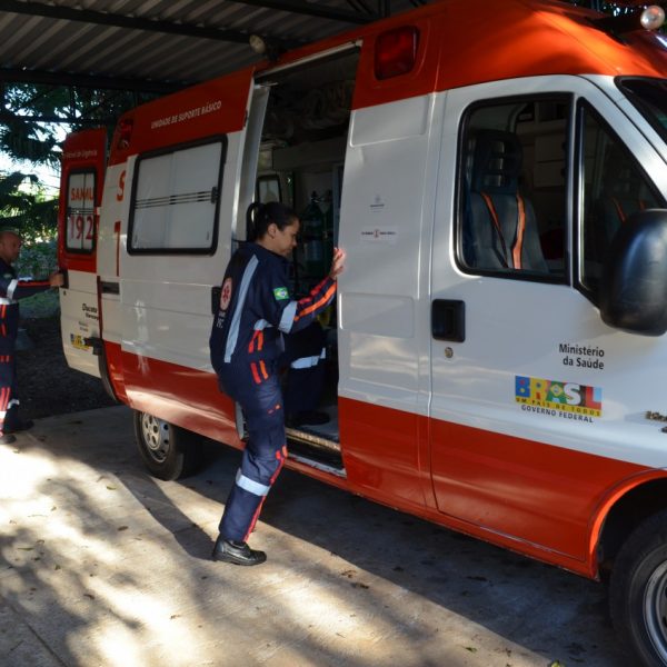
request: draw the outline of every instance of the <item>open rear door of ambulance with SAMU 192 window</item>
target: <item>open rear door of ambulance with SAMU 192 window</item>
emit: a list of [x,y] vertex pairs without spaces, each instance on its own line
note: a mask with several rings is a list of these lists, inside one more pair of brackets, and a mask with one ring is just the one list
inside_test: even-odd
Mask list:
[[71,368],[100,376],[92,341],[99,339],[97,239],[104,180],[107,131],[70,135],[63,147],[58,212],[58,261],[66,271],[60,326]]

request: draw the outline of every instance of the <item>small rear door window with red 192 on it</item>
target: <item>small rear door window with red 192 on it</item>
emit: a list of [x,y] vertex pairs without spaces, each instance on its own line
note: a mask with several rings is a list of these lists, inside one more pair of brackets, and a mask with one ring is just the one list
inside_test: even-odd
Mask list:
[[69,175],[67,185],[67,236],[68,252],[93,250],[94,243],[94,171],[77,171]]

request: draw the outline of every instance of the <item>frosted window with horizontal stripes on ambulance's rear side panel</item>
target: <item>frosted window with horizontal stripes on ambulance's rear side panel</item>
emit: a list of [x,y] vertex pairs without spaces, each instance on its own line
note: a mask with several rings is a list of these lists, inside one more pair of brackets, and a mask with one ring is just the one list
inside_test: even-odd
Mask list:
[[140,156],[128,251],[210,253],[217,238],[225,138]]

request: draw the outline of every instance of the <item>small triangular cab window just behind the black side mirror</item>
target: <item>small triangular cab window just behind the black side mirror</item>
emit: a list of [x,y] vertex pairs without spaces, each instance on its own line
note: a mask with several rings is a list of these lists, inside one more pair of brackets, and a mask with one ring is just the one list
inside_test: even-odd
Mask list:
[[633,213],[663,208],[656,193],[630,151],[587,106],[580,109],[583,130],[583,246],[581,286],[595,295],[614,236],[631,223]]

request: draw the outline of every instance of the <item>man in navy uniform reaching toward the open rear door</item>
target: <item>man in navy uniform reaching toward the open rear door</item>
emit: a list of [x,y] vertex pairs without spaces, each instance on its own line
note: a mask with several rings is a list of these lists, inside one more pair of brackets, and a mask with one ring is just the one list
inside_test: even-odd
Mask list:
[[14,347],[19,331],[19,299],[51,287],[62,286],[62,273],[48,280],[19,280],[13,262],[21,251],[21,237],[13,229],[0,230],[0,442],[13,442],[11,435],[32,426],[18,416]]

